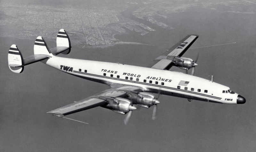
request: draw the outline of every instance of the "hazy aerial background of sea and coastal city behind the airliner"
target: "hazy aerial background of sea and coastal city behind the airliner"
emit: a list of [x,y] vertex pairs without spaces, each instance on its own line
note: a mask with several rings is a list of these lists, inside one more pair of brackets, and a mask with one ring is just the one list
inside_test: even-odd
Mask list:
[[[0,151],[255,151],[255,25],[255,0],[0,0]],[[12,44],[32,55],[37,36],[53,48],[62,28],[72,48],[60,57],[143,67],[197,34],[184,54],[199,54],[195,76],[213,75],[246,103],[160,95],[156,120],[152,108],[134,111],[128,125],[101,107],[68,116],[89,125],[54,117],[46,112],[109,86],[40,62],[16,74],[7,55]]]

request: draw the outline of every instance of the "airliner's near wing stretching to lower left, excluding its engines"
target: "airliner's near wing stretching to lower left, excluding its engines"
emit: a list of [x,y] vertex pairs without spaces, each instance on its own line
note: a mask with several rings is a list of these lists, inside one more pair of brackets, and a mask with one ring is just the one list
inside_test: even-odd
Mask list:
[[133,86],[112,87],[111,89],[104,90],[99,94],[93,95],[91,97],[85,98],[75,103],[68,104],[66,106],[49,111],[47,113],[50,113],[54,116],[63,117],[72,113],[108,104],[109,98],[126,98],[128,96],[125,94],[125,91],[141,92],[142,90],[139,87]]

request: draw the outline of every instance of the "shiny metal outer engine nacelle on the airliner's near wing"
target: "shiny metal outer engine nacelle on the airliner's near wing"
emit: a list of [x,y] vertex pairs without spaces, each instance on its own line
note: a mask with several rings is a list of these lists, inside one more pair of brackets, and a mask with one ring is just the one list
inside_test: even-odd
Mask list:
[[125,114],[130,110],[136,110],[136,107],[132,106],[132,102],[128,99],[116,97],[115,99],[111,100],[104,108],[113,110],[116,113]]

